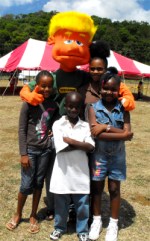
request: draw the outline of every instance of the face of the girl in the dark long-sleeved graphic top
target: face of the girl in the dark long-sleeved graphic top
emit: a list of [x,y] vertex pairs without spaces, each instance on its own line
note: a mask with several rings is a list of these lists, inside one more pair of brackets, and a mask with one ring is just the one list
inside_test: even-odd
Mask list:
[[38,87],[38,93],[42,94],[45,99],[48,98],[53,91],[52,77],[46,75],[41,76],[40,81],[38,83]]

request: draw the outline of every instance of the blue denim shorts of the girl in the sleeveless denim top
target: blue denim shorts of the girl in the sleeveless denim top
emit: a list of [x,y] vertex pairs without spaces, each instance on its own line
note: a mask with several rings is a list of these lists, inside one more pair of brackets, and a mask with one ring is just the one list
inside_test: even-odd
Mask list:
[[126,179],[126,153],[123,141],[97,141],[95,151],[90,155],[91,180]]

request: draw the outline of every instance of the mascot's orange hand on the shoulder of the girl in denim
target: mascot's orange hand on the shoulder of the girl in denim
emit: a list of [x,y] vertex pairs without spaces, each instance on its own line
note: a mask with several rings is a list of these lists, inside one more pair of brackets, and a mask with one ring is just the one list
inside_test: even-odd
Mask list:
[[125,83],[121,82],[119,95],[120,95],[119,100],[121,101],[126,111],[131,111],[135,109],[134,96],[131,93],[131,91],[128,89]]

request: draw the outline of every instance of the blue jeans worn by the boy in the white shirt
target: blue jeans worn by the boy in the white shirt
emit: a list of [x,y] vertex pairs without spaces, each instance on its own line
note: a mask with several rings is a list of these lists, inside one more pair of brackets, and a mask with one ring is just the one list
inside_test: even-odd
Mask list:
[[62,233],[67,231],[67,218],[69,215],[70,196],[76,210],[76,232],[88,233],[89,195],[88,194],[54,194],[55,200],[55,229]]

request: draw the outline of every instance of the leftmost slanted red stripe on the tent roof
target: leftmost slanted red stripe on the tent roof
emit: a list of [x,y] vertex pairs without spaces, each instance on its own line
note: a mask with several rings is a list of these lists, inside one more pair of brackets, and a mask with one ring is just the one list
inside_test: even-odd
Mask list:
[[27,47],[28,41],[24,42],[22,45],[20,45],[18,48],[16,48],[10,55],[10,58],[8,59],[5,68],[7,71],[14,71],[17,69],[17,66],[24,54],[24,51]]

